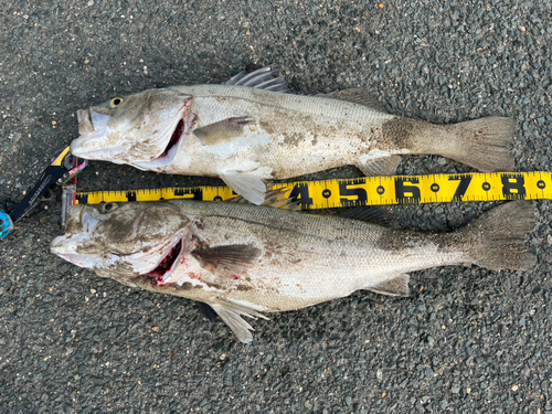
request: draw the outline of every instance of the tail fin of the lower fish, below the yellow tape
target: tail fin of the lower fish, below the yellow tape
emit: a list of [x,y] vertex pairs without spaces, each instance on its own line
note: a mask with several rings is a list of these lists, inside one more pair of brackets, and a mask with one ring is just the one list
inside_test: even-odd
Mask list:
[[530,201],[512,201],[485,213],[465,231],[474,241],[471,257],[491,270],[531,270],[537,257],[523,243],[534,229],[534,209]]

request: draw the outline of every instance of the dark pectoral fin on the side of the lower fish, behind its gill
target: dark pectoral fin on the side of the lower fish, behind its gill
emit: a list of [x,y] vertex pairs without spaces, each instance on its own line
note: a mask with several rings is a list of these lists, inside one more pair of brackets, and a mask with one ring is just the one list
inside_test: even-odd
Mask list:
[[261,250],[248,244],[231,244],[198,248],[191,254],[198,259],[200,266],[212,274],[232,277],[234,274],[246,272],[247,266],[261,255]]

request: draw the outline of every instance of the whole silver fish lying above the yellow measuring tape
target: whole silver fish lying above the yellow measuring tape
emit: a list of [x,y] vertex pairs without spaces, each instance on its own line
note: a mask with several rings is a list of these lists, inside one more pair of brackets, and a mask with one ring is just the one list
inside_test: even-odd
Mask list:
[[512,171],[514,120],[435,125],[389,114],[361,88],[289,93],[272,66],[223,85],[171,86],[77,112],[78,158],[221,178],[262,204],[265,182],[343,166],[390,176],[402,155],[437,155],[482,172]]

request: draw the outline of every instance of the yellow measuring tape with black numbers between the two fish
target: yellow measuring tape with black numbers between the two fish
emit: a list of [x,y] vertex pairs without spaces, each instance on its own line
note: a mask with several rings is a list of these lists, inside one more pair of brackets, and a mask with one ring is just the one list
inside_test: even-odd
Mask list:
[[[552,199],[552,173],[470,172],[460,174],[389,176],[274,183],[285,189],[278,199],[300,202],[301,209],[416,204],[450,201]],[[75,194],[75,204],[194,199],[225,201],[235,198],[227,187],[166,188],[98,191]]]

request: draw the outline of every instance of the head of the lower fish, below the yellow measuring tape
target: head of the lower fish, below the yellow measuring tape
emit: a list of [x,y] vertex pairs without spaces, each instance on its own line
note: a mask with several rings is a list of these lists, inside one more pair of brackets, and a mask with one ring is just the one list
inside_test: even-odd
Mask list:
[[[52,253],[100,276],[132,285],[137,276],[169,277],[183,256],[191,220],[166,202],[77,204]],[[126,280],[126,282],[125,282]]]

